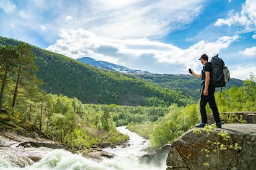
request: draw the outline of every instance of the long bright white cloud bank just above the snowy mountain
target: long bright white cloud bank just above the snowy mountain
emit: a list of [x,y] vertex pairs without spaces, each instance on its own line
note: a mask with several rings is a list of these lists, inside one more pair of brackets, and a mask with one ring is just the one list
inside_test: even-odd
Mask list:
[[239,36],[224,36],[214,42],[200,41],[188,49],[171,44],[150,41],[147,38],[111,39],[96,36],[80,29],[61,30],[61,39],[49,46],[49,51],[67,55],[73,59],[84,56],[105,60],[132,69],[152,73],[184,73],[187,68],[197,70],[201,65],[198,57],[204,53],[209,56],[227,48]]

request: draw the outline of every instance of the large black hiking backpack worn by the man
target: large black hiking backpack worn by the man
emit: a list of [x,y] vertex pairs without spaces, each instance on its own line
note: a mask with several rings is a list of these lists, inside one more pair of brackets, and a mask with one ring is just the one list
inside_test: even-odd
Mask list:
[[218,57],[218,54],[211,59],[213,71],[211,71],[211,84],[213,87],[224,87],[230,80],[228,67],[225,66],[223,60]]

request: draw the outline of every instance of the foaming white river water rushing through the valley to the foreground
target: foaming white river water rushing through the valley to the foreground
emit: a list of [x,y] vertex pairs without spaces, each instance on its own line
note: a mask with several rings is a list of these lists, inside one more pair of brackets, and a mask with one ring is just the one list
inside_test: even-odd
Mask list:
[[166,169],[166,162],[161,163],[163,164],[162,167],[155,167],[153,164],[139,164],[139,158],[147,154],[143,149],[148,147],[148,140],[143,139],[134,132],[130,132],[125,126],[117,127],[117,129],[121,133],[129,135],[129,147],[105,148],[106,152],[115,155],[112,159],[106,158],[98,163],[64,150],[53,150],[47,153],[39,162],[25,168],[14,167],[14,164],[6,160],[0,160],[0,169]]

